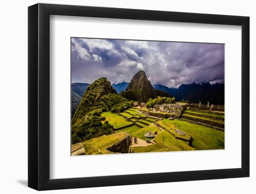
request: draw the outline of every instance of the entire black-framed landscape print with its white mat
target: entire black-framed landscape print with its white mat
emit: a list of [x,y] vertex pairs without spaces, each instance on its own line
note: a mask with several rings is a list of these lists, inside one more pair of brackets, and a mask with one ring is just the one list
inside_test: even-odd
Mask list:
[[28,7],[28,186],[249,176],[249,17]]

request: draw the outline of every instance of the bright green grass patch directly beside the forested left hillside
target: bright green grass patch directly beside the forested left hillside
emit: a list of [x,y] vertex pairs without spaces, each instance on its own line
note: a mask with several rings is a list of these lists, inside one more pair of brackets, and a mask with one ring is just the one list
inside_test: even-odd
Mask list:
[[[126,121],[124,118],[119,116],[118,114],[111,113],[111,112],[104,112],[101,114],[101,116],[104,116],[106,120],[108,120],[110,125],[113,125],[114,128],[119,128],[126,126],[128,124],[131,124],[131,121]],[[104,122],[103,120],[102,122]]]

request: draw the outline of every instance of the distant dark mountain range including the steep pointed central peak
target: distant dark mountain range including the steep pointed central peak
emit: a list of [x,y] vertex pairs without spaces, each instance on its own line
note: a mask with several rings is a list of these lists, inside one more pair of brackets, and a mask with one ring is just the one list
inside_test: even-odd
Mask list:
[[[146,102],[150,97],[174,96],[176,101],[189,100],[190,103],[198,103],[201,101],[202,104],[207,104],[209,101],[210,104],[224,105],[224,83],[216,83],[214,85],[211,85],[210,83],[191,83],[182,84],[180,87],[174,88],[166,87],[162,84],[155,84],[152,86],[143,71],[138,72],[134,78],[134,80],[131,80],[131,84],[128,82],[121,82],[117,84],[114,83],[111,86],[118,94],[121,94],[128,100],[138,100],[138,96],[141,102]],[[89,83],[71,84],[72,117],[89,85]]]

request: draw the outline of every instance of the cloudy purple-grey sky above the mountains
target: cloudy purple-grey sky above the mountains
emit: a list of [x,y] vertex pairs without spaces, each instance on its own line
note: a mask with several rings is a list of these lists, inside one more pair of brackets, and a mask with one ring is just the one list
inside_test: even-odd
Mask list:
[[152,84],[179,87],[188,83],[224,82],[224,45],[71,39],[71,81],[92,83],[106,77],[111,83],[130,82],[144,70]]

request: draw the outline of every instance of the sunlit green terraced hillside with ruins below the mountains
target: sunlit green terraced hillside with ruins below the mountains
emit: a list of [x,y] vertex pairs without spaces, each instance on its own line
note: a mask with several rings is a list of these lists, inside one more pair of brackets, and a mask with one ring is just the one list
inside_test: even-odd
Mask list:
[[[85,154],[224,149],[224,114],[186,110],[181,119],[156,120],[129,108],[118,114],[103,112],[101,116],[105,117],[102,123],[107,120],[115,133],[81,142]],[[149,132],[155,136],[145,137]]]

